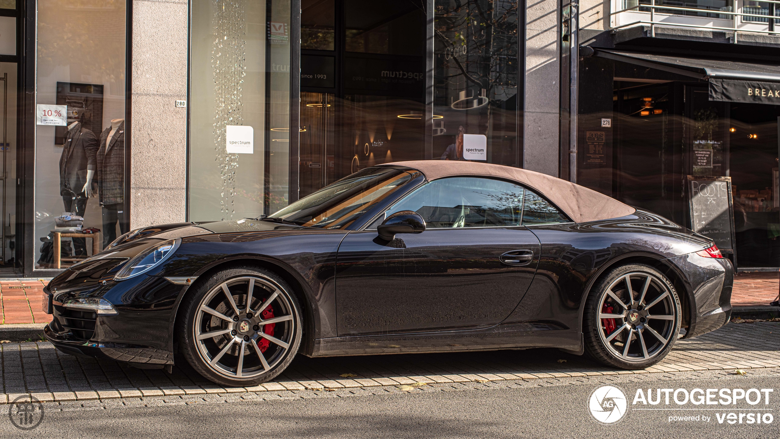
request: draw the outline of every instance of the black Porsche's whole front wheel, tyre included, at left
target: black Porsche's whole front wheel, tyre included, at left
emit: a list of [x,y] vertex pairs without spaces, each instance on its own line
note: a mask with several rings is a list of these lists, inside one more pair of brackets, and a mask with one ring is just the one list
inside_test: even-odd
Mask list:
[[257,268],[220,271],[195,286],[183,306],[179,342],[201,375],[228,386],[260,384],[298,352],[301,313],[282,278]]

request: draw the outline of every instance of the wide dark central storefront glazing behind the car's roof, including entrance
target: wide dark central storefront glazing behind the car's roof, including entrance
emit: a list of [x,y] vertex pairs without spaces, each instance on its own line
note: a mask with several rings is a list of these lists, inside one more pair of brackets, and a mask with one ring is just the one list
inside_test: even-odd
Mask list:
[[302,32],[301,196],[392,161],[522,163],[518,2],[434,5],[431,29],[417,0],[335,2],[333,50]]

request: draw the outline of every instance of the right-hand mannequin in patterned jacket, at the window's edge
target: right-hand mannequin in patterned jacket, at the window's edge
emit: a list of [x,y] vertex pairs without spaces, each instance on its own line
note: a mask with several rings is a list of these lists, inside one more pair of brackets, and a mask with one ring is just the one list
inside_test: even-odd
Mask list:
[[116,239],[116,225],[126,232],[125,201],[125,119],[112,119],[100,135],[97,150],[97,187],[103,207],[103,246]]

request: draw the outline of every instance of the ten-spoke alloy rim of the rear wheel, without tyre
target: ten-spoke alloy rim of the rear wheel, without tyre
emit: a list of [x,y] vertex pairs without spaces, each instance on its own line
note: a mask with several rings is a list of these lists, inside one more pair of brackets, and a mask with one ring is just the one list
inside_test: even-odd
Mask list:
[[674,341],[677,308],[668,286],[653,274],[622,274],[599,298],[601,342],[612,356],[627,363],[653,359]]

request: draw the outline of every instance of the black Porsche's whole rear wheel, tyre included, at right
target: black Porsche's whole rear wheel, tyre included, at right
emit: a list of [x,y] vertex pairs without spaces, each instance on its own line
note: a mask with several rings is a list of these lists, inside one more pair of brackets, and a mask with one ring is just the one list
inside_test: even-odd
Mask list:
[[587,298],[585,349],[607,366],[652,366],[675,344],[680,310],[674,285],[660,271],[640,264],[615,268]]

